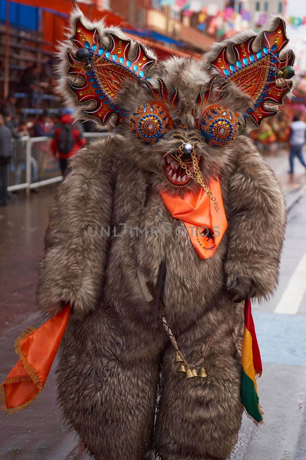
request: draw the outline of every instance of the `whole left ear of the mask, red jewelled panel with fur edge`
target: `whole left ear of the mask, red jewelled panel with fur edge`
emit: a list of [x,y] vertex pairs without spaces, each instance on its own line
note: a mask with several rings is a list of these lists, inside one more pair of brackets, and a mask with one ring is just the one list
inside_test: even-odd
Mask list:
[[127,112],[116,104],[116,98],[125,82],[136,80],[150,91],[147,71],[156,63],[150,54],[120,29],[90,23],[75,10],[71,31],[61,46],[60,92],[80,118],[85,114],[105,125],[115,115],[119,126]]

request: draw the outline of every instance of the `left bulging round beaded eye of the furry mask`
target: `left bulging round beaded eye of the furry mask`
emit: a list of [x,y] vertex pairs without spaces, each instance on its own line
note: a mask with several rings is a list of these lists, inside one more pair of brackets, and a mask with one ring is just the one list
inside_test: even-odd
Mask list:
[[172,126],[166,109],[156,104],[141,104],[130,116],[128,127],[134,138],[153,144]]

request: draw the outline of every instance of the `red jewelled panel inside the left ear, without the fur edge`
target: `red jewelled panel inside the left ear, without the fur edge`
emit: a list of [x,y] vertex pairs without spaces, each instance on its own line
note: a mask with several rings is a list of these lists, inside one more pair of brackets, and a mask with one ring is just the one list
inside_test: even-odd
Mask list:
[[[86,28],[78,17],[71,38],[78,50],[75,54],[67,51],[69,69],[67,75],[74,76],[74,82],[68,83],[69,89],[77,97],[78,104],[95,102],[92,109],[83,109],[85,115],[95,118],[105,125],[116,115],[115,125],[119,126],[127,113],[116,104],[118,91],[126,78],[137,79],[140,84],[149,87],[147,69],[155,64],[145,48],[136,43],[136,54],[130,57],[131,40],[124,40],[113,33],[108,33],[110,47],[106,49],[100,41],[96,28]],[[77,84],[78,77],[83,83]]]

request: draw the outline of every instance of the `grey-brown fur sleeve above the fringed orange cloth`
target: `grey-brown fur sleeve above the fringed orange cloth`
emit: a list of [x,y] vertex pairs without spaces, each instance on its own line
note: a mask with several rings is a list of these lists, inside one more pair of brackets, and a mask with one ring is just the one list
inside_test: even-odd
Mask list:
[[72,158],[72,172],[58,187],[36,293],[39,309],[48,316],[66,302],[76,315],[86,315],[101,295],[109,245],[101,226],[111,225],[116,144],[116,138],[89,144]]

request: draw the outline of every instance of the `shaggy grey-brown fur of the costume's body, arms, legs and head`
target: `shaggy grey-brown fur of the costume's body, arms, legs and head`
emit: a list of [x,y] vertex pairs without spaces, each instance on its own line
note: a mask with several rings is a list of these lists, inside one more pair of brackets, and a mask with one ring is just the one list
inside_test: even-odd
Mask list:
[[[160,76],[170,91],[178,88],[184,110],[179,120],[172,116],[189,126],[181,129],[187,137],[195,129],[191,109],[199,89],[212,75],[206,57],[202,62],[173,57],[152,70],[153,85]],[[61,85],[63,79],[62,72]],[[148,98],[129,81],[118,103],[133,113]],[[250,98],[232,88],[222,103],[243,114]],[[197,145],[203,177],[220,179],[228,220],[216,253],[200,260],[189,236],[175,236],[179,222],[160,195],[161,190],[184,195],[162,173],[165,155],[181,141],[166,134],[156,144],[144,144],[127,123],[120,129],[72,158],[72,173],[50,210],[37,301],[48,316],[66,302],[73,306],[57,369],[63,415],[96,460],[145,460],[154,454],[162,460],[226,460],[242,417],[243,330],[243,303],[229,300],[227,288],[238,279],[241,297],[273,294],[286,223],[284,196],[249,138],[238,135],[218,148]],[[192,182],[187,189],[199,185]],[[145,228],[157,234],[140,233]],[[164,329],[150,328],[151,305],[138,273],[155,284],[161,260],[167,264],[164,315],[184,356],[197,361],[217,331],[206,379],[178,374]]]

